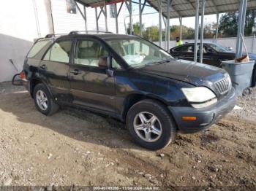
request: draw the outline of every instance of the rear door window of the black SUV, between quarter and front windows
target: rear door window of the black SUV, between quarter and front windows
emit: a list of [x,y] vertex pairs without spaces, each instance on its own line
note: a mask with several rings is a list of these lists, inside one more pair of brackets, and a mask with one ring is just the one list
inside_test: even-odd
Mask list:
[[72,47],[71,40],[55,42],[46,52],[43,60],[69,63],[69,55]]

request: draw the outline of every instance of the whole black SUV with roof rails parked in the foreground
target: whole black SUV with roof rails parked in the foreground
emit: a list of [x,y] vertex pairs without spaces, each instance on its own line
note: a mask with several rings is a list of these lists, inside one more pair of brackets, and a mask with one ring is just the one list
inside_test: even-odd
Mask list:
[[165,147],[177,130],[204,130],[235,106],[226,71],[176,60],[138,36],[48,35],[34,43],[21,76],[42,114],[61,105],[107,114],[148,149]]

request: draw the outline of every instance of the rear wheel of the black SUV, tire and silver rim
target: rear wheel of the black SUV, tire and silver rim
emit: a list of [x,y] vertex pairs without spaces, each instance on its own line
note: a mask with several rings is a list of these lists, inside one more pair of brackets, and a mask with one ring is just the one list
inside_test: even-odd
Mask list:
[[47,87],[40,83],[34,87],[34,104],[37,110],[45,115],[52,115],[59,110],[59,105],[53,101]]

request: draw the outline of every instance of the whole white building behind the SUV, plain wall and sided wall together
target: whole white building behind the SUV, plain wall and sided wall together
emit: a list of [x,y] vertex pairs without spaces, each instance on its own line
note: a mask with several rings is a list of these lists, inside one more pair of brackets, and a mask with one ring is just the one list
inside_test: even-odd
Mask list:
[[[79,5],[83,11],[83,6]],[[118,4],[118,7],[120,4]],[[77,9],[76,14],[67,13],[66,0],[8,0],[1,1],[0,11],[0,82],[12,79],[23,68],[23,61],[34,39],[55,33],[84,31],[85,22]],[[53,13],[53,23],[50,12]],[[119,15],[119,33],[124,34],[124,8]],[[98,8],[99,12],[99,8]],[[108,6],[108,29],[116,33],[115,18],[110,18]],[[86,7],[88,29],[96,30],[95,10]],[[103,14],[99,19],[99,30],[105,31]],[[18,71],[10,63],[17,66]]]

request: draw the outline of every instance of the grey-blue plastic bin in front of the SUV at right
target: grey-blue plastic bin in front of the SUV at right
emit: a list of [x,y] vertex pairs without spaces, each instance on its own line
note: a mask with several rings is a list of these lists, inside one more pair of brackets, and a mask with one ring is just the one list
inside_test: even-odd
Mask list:
[[225,69],[230,74],[236,95],[246,94],[246,89],[252,87],[252,71],[254,66],[255,61],[235,63],[234,60],[231,60],[222,62],[222,69]]

